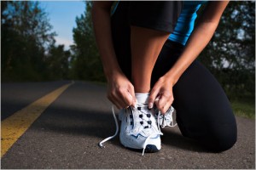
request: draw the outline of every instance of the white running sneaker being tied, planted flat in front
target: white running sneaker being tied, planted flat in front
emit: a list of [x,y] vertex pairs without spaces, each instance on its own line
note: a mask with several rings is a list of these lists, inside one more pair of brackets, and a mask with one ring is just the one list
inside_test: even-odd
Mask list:
[[157,127],[154,110],[148,110],[147,104],[137,104],[135,108],[122,109],[119,112],[121,144],[131,149],[143,149],[156,152],[161,148],[160,130]]

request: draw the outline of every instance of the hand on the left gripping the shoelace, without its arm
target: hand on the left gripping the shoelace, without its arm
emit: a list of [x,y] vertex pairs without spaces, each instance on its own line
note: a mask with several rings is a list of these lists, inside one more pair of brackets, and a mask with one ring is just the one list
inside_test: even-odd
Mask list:
[[134,87],[124,74],[118,73],[108,78],[108,99],[118,109],[135,107]]

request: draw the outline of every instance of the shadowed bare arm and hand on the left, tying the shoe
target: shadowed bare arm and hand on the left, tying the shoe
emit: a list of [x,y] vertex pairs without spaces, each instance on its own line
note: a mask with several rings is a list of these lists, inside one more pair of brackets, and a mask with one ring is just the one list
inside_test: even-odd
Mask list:
[[[94,2],[92,20],[96,43],[108,80],[108,99],[119,109],[135,105],[134,87],[121,71],[113,49],[110,10],[113,2]],[[102,29],[103,28],[103,29]]]

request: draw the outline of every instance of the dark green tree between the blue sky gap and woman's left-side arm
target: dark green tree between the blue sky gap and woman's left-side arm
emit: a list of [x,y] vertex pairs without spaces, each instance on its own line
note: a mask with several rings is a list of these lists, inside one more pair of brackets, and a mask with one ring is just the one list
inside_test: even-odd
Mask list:
[[91,1],[85,2],[84,14],[76,18],[77,27],[73,28],[72,71],[76,79],[104,81],[102,64],[96,48],[91,21]]

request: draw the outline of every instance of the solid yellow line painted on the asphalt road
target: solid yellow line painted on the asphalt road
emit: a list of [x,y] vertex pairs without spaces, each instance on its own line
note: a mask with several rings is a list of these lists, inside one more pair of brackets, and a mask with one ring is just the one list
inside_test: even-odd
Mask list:
[[57,88],[1,122],[1,157],[71,84],[73,83]]

